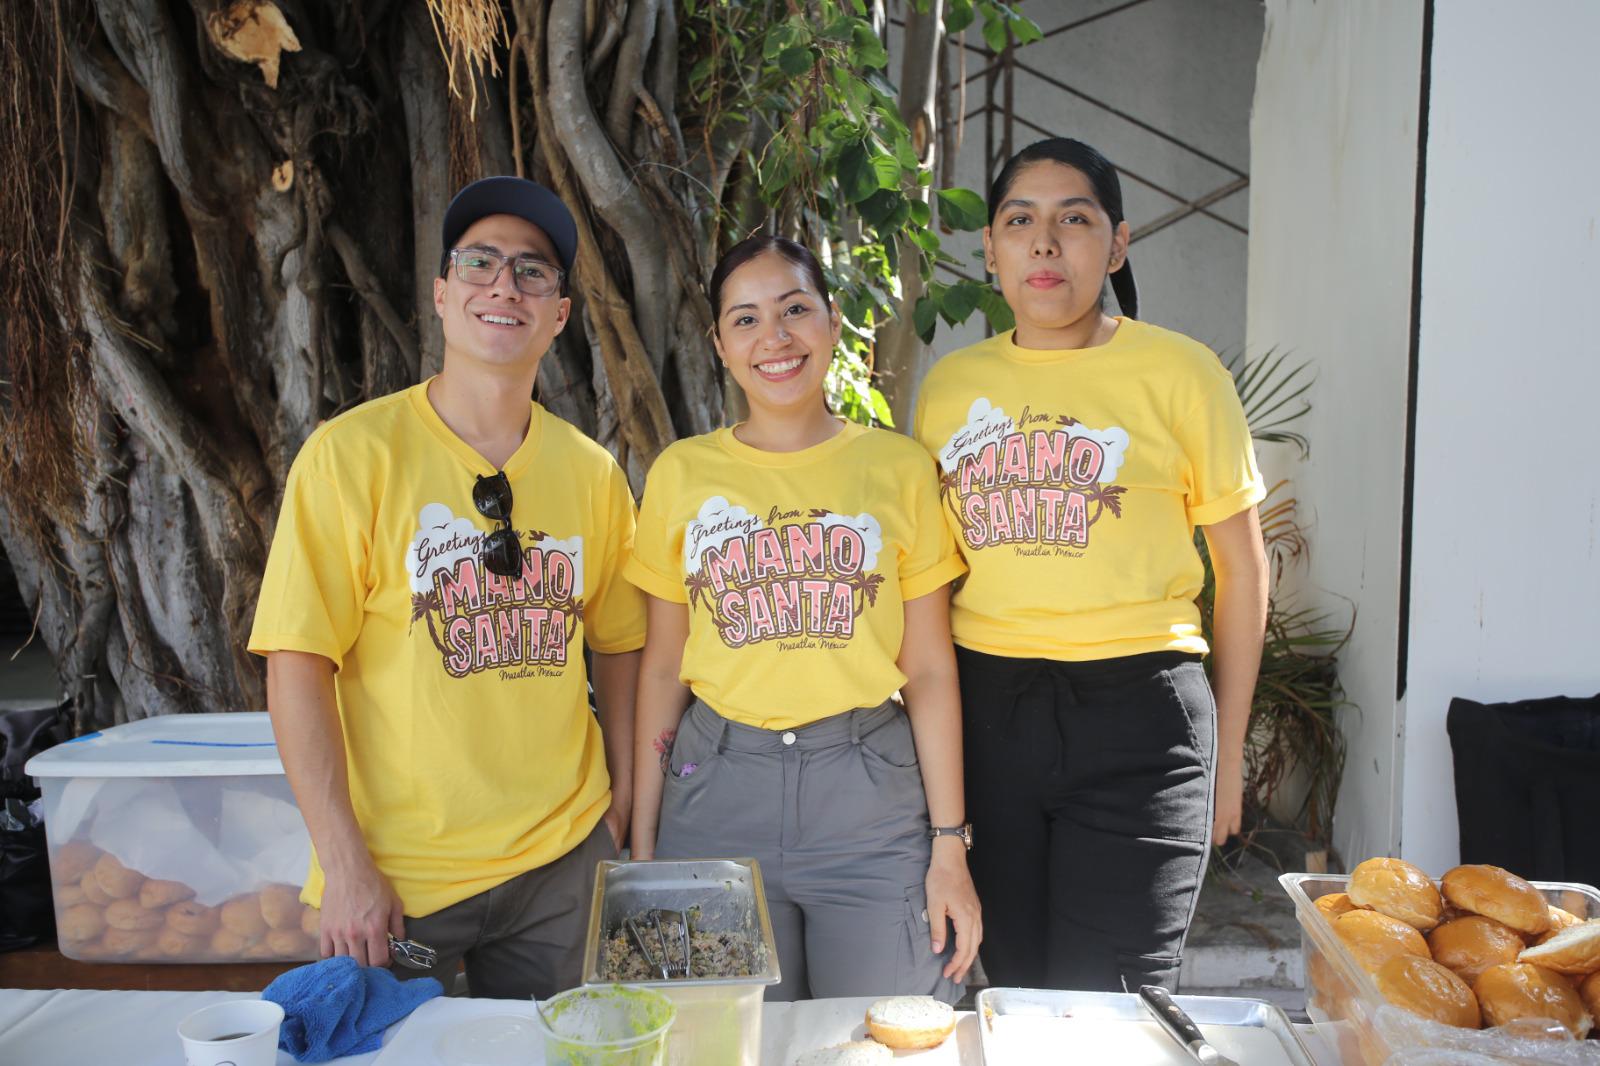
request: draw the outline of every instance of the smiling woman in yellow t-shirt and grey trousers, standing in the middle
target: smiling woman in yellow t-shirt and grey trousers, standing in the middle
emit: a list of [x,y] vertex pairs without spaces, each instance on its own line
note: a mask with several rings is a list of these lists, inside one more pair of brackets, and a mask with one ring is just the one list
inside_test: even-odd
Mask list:
[[934,466],[829,413],[840,320],[806,248],[736,245],[710,298],[750,418],[645,485],[634,855],[760,861],[776,999],[955,1002],[981,928]]

